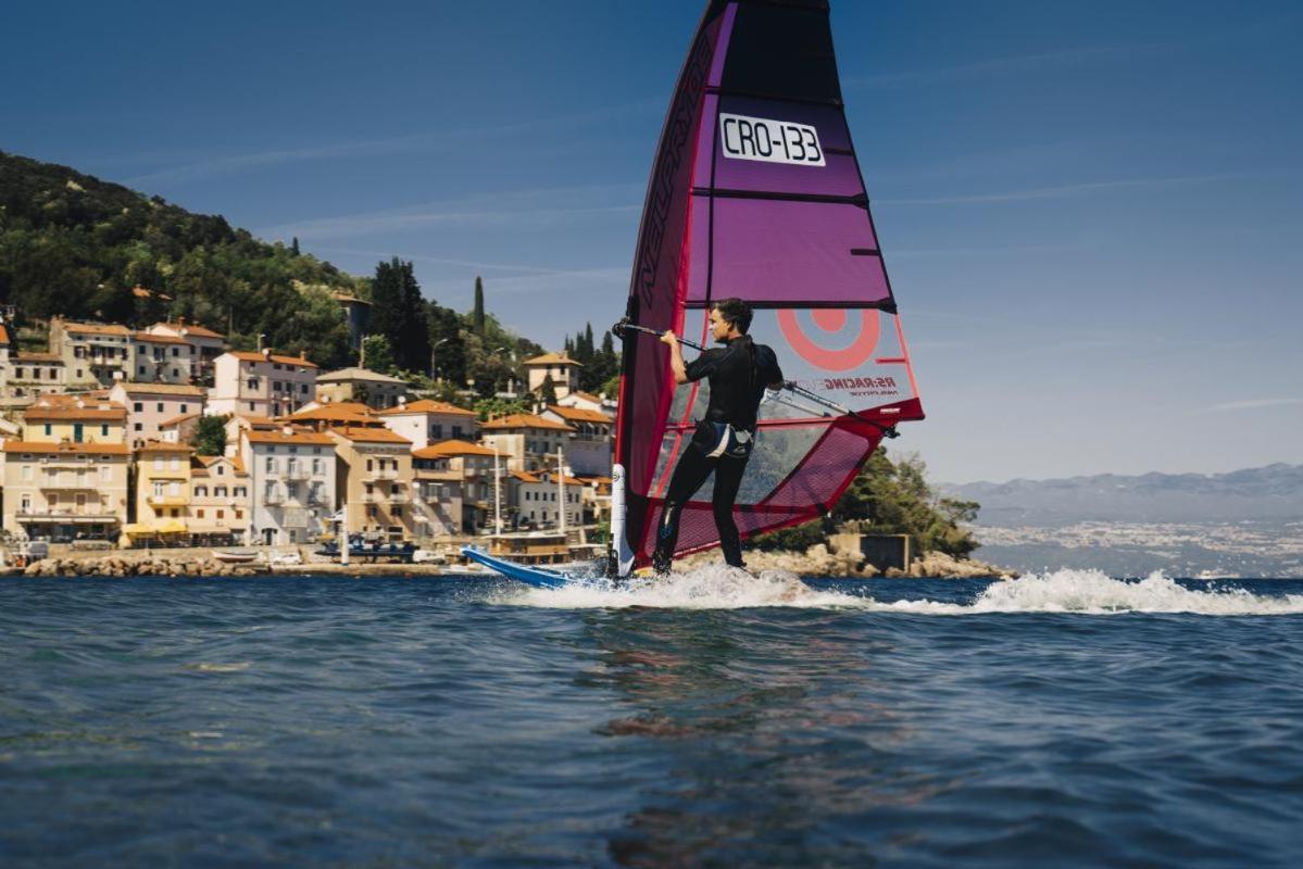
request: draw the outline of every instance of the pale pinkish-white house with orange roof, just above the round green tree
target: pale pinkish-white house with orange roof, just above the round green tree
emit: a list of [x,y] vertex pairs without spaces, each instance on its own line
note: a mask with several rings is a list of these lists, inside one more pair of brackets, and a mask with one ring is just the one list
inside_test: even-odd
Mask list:
[[214,362],[210,414],[281,417],[317,395],[317,366],[304,356],[231,350]]

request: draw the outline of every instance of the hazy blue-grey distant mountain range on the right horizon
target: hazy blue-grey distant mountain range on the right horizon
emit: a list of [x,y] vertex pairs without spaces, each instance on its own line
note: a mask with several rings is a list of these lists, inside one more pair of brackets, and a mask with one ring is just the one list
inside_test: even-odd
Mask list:
[[1098,522],[1237,522],[1303,519],[1303,465],[1226,474],[1097,474],[1005,483],[941,483],[946,496],[981,504],[979,525],[1057,528]]

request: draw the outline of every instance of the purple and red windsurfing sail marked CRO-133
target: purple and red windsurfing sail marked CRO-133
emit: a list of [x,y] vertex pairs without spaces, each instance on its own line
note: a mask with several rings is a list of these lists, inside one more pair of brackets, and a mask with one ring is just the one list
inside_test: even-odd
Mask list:
[[[923,418],[825,0],[711,0],[679,73],[625,317],[705,344],[710,304],[727,297],[751,302],[754,340],[822,399],[784,391],[761,405],[735,508],[749,537],[827,512],[885,429]],[[668,348],[638,332],[624,334],[623,349],[615,477],[624,521],[612,532],[625,572],[650,562],[670,476],[709,386],[676,388]],[[684,508],[676,554],[718,545],[711,485]]]

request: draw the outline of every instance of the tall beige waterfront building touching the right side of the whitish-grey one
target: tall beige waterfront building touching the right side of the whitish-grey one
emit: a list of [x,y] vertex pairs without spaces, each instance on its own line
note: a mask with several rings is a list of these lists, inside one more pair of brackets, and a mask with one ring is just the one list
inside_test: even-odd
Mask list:
[[384,541],[417,537],[412,442],[384,427],[349,426],[326,434],[339,456],[335,485],[348,533]]

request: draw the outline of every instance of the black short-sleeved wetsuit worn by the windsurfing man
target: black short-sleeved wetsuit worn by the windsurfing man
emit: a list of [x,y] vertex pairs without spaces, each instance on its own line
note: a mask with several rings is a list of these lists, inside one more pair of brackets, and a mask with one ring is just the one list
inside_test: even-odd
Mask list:
[[715,474],[710,500],[715,528],[719,529],[719,547],[724,562],[732,567],[743,565],[741,539],[732,517],[734,502],[756,442],[756,412],[765,397],[765,387],[783,379],[774,352],[764,344],[752,343],[749,335],[735,337],[726,347],[706,350],[685,367],[688,382],[709,380],[710,404],[670,478],[670,491],[661,512],[655,552],[652,556],[658,573],[668,572],[679,542],[683,507],[701,489],[701,483],[706,482],[710,472]]

